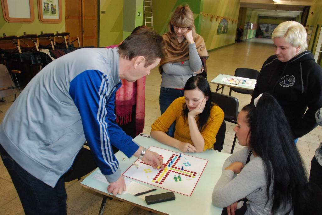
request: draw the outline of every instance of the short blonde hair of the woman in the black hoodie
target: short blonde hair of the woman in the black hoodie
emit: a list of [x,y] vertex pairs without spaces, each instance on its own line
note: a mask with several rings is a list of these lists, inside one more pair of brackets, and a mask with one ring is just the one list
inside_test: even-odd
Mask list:
[[299,53],[308,48],[306,42],[307,33],[303,25],[295,21],[282,22],[275,28],[272,34],[272,40],[275,37],[284,38],[285,41],[292,44],[293,47],[300,47]]

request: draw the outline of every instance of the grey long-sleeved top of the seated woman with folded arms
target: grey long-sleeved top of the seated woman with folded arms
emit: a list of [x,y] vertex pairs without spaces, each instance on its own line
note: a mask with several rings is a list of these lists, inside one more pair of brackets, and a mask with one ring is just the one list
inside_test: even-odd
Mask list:
[[[251,155],[250,162],[245,165],[248,154],[249,149],[245,147],[227,158],[223,164],[222,175],[213,188],[213,205],[224,208],[246,197],[249,204],[245,214],[271,214],[272,202],[271,200],[267,202],[264,163],[260,157]],[[245,165],[238,175],[234,174],[232,170],[225,170],[235,161]],[[277,214],[285,214],[289,210],[290,206],[286,206],[280,209]],[[293,211],[290,214],[292,215]]]

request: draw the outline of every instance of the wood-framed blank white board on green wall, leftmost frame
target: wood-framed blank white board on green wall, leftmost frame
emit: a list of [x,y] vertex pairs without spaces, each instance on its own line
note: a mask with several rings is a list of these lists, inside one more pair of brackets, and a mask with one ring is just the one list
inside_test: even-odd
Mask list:
[[1,0],[5,21],[31,23],[34,20],[33,0]]

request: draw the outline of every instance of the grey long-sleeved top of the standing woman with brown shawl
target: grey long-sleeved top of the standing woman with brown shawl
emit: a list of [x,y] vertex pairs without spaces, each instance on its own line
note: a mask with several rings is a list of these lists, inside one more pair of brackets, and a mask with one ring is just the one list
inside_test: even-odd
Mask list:
[[176,63],[166,63],[162,66],[161,86],[166,88],[184,88],[188,78],[202,67],[196,44],[189,44],[189,60]]

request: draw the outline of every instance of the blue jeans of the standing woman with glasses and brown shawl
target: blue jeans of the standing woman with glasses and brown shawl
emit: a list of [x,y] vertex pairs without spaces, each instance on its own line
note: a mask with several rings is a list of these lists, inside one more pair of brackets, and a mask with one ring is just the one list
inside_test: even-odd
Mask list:
[[[160,96],[159,96],[159,104],[161,114],[166,112],[166,109],[170,106],[170,104],[177,98],[184,96],[184,90],[176,90],[172,88],[161,87],[160,88]],[[170,126],[167,134],[170,137],[173,137],[175,133],[175,122]]]

